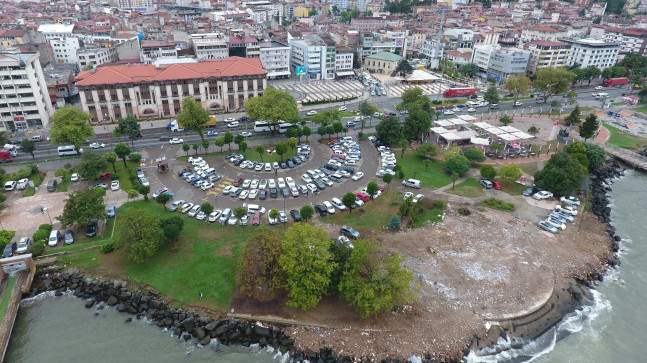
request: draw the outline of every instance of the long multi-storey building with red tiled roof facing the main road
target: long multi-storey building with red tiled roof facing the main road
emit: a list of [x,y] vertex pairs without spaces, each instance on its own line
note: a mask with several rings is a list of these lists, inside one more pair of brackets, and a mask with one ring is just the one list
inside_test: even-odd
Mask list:
[[93,124],[134,114],[174,117],[192,95],[211,112],[234,111],[263,94],[267,72],[258,58],[167,65],[105,66],[81,72],[77,87],[83,111]]

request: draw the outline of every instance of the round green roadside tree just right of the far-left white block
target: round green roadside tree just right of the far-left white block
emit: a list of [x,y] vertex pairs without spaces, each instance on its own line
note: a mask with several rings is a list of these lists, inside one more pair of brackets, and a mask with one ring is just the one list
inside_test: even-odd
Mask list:
[[52,144],[74,145],[79,151],[85,140],[94,136],[94,128],[88,123],[91,118],[70,104],[59,108],[49,120]]

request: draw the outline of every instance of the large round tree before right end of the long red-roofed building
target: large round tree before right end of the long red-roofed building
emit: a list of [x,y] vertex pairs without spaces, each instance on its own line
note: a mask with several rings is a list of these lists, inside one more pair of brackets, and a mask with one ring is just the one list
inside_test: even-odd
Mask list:
[[278,131],[279,123],[297,122],[299,109],[294,97],[287,91],[267,88],[262,96],[252,97],[245,102],[245,112],[253,120],[267,120],[272,133]]

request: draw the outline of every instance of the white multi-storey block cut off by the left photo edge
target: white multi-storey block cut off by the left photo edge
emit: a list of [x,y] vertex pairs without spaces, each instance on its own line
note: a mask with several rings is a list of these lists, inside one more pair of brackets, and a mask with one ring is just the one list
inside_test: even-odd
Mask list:
[[7,48],[0,53],[0,128],[43,128],[54,114],[38,52]]

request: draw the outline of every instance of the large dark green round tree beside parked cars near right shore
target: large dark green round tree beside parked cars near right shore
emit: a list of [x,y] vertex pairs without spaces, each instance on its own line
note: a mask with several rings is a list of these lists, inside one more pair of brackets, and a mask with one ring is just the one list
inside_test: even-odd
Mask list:
[[553,154],[535,173],[535,184],[559,195],[569,195],[582,185],[586,173],[580,162],[566,152]]

